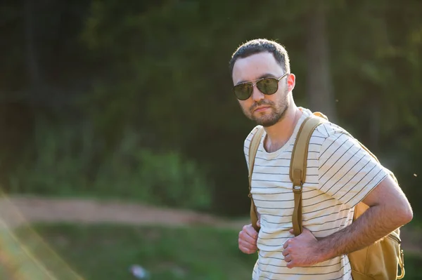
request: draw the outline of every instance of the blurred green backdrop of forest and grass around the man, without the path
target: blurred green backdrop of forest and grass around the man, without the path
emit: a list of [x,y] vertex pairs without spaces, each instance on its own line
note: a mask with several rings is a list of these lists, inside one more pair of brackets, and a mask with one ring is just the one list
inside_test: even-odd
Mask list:
[[[420,0],[2,1],[1,187],[24,216],[42,199],[117,199],[247,222],[243,141],[255,124],[231,93],[229,60],[245,41],[274,39],[290,55],[296,104],[397,176],[414,208],[405,279],[422,279],[421,14]],[[32,229],[85,279],[134,279],[138,262],[151,279],[250,279],[241,222],[163,224]]]

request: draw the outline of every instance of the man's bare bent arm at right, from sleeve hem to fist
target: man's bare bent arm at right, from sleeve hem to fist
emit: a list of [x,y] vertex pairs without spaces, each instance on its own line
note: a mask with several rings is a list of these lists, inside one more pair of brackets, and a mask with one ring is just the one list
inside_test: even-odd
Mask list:
[[[304,228],[302,234],[288,239],[283,251],[287,267],[307,267],[352,253],[373,244],[413,218],[409,201],[390,176],[375,187],[363,202],[369,208],[338,232],[316,240]],[[293,233],[293,229],[290,232]]]

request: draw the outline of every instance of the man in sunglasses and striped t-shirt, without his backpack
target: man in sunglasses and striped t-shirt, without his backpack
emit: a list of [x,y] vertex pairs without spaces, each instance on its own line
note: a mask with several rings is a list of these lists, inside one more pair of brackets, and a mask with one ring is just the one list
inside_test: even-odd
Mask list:
[[[388,171],[350,134],[326,122],[309,142],[302,192],[304,229],[294,236],[290,156],[298,128],[312,112],[295,105],[295,75],[280,44],[248,41],[232,55],[230,69],[243,113],[265,130],[251,190],[260,232],[245,225],[238,238],[243,253],[259,249],[252,279],[352,279],[347,253],[410,222],[409,201]],[[257,128],[245,139],[246,161]],[[369,209],[352,223],[353,208],[360,201]]]

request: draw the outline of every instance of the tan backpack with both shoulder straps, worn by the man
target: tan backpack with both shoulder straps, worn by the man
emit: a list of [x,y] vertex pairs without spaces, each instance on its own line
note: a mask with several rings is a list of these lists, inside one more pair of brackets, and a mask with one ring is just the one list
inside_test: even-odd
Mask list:
[[[302,232],[302,186],[306,178],[307,170],[307,152],[311,135],[319,124],[328,121],[328,118],[320,112],[314,112],[313,115],[307,117],[299,128],[298,136],[293,147],[292,158],[290,161],[290,180],[293,182],[292,191],[294,193],[295,208],[293,209],[293,232],[298,236]],[[252,226],[257,232],[260,228],[257,227],[257,210],[253,202],[251,190],[252,171],[255,162],[255,155],[257,148],[260,145],[260,140],[264,128],[260,127],[257,133],[253,135],[250,142],[249,149],[249,194],[250,197],[250,220]],[[359,142],[359,141],[358,141]],[[376,161],[378,159],[359,142],[366,152],[369,152]],[[390,176],[397,182],[395,175],[390,172]],[[353,220],[356,220],[368,206],[360,202],[354,207]],[[404,253],[400,248],[400,232],[395,229],[393,232],[385,236],[385,238],[377,241],[366,248],[359,251],[349,253],[347,256],[352,267],[352,278],[354,280],[395,280],[404,277]],[[400,268],[400,274],[398,270]]]

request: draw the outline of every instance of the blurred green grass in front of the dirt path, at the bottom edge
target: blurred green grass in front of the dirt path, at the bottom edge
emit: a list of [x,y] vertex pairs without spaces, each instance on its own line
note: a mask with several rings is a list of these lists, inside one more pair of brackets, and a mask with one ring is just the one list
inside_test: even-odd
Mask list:
[[[237,232],[229,229],[65,224],[34,229],[85,280],[134,279],[129,274],[134,264],[148,269],[151,280],[250,279],[257,257],[238,251]],[[61,273],[58,279],[75,279],[63,276],[63,263],[39,246],[30,230],[20,228],[16,233],[40,260],[53,261],[49,268]],[[404,279],[421,279],[422,258],[405,258]]]

